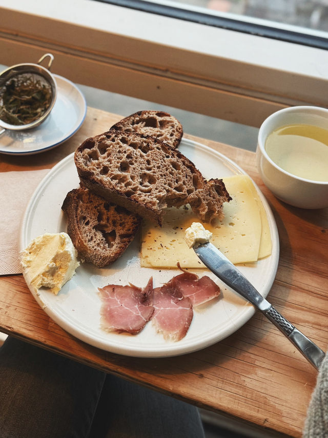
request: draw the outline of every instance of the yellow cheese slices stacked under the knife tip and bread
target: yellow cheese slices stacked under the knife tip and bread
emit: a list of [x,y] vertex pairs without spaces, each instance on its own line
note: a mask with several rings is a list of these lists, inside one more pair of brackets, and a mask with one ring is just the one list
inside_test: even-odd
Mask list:
[[[233,198],[224,204],[224,220],[203,225],[213,233],[213,245],[232,263],[256,262],[259,255],[263,257],[271,253],[265,210],[249,176],[224,178],[224,184]],[[199,219],[186,207],[167,209],[162,227],[145,221],[142,225],[141,266],[175,268],[179,262],[183,268],[203,268],[185,241],[185,231],[192,222],[199,222]]]

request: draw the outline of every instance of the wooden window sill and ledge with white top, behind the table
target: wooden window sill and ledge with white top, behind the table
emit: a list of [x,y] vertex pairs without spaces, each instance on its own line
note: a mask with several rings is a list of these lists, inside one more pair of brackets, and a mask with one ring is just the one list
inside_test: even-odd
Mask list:
[[327,50],[92,0],[0,0],[0,63],[49,51],[73,82],[250,126],[327,106]]

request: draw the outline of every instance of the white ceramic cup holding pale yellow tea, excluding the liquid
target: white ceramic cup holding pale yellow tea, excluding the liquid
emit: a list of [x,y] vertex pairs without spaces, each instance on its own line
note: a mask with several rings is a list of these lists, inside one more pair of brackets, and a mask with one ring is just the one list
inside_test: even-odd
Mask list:
[[306,180],[281,169],[265,151],[268,135],[285,125],[307,124],[328,130],[328,109],[297,106],[271,114],[262,123],[258,133],[256,158],[263,183],[281,201],[300,208],[328,207],[327,181]]

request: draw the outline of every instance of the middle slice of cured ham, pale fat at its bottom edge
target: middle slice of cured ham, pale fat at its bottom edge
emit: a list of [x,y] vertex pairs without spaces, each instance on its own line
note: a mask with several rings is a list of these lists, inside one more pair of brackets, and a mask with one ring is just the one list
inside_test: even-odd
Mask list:
[[193,309],[190,299],[171,284],[153,291],[152,323],[166,340],[180,341],[190,327]]

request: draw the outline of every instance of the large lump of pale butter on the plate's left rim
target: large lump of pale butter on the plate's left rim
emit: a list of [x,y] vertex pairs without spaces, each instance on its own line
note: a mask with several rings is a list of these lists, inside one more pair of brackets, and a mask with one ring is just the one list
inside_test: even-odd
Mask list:
[[48,287],[55,295],[79,266],[77,251],[66,233],[45,233],[20,252],[20,264],[27,284]]

